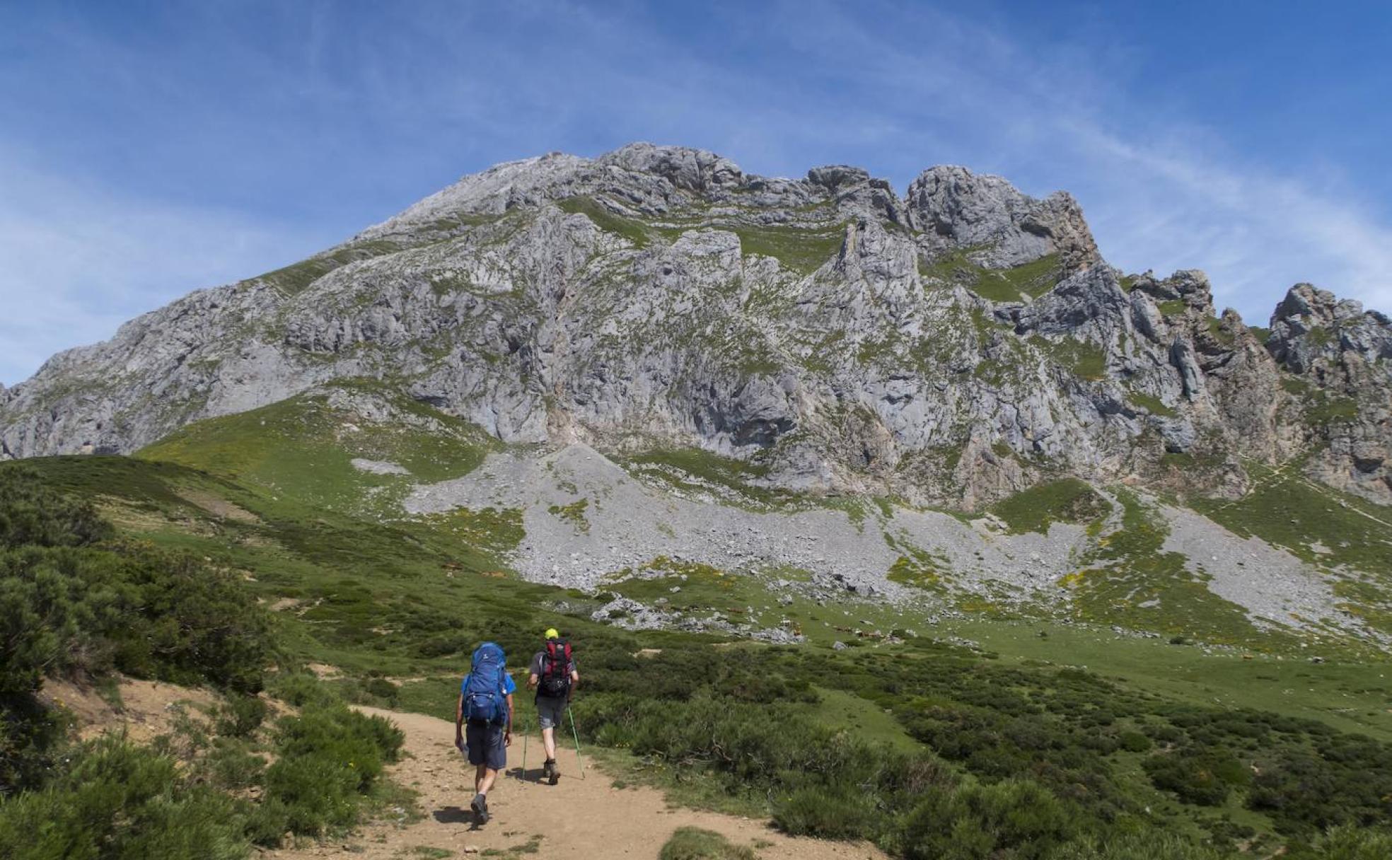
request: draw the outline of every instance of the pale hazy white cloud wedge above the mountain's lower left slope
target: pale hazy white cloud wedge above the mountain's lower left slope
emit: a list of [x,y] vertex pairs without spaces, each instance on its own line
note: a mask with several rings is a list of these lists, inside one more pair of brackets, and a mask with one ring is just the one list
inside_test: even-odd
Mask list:
[[129,199],[0,150],[0,381],[104,340],[193,288],[308,256],[324,237],[216,209]]

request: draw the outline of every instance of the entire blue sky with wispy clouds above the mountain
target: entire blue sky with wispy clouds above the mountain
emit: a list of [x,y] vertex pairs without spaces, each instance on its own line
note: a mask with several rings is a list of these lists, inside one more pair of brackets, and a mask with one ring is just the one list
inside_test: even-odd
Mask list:
[[966,164],[1264,323],[1392,309],[1381,3],[0,0],[0,381],[459,175],[631,141],[746,171]]

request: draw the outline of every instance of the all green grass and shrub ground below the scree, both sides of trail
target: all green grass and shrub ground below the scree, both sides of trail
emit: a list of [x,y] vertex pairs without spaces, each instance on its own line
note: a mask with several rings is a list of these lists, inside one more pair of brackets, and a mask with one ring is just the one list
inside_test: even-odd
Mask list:
[[[135,458],[0,463],[0,603],[22,619],[0,637],[0,834],[53,834],[49,853],[4,836],[0,853],[136,857],[160,839],[168,857],[235,857],[342,832],[395,797],[379,777],[400,750],[344,703],[452,719],[479,642],[519,668],[547,626],[575,643],[580,738],[614,778],[791,834],[934,859],[1392,852],[1385,661],[1019,614],[933,626],[874,601],[849,604],[855,623],[901,636],[848,635],[839,612],[803,603],[781,608],[799,646],[625,632],[590,619],[604,596],[507,568],[521,539],[507,511],[384,516],[404,479],[348,462],[415,458],[441,479],[475,468],[486,441],[345,443],[317,406],[283,409],[220,426],[216,445],[175,436]],[[759,597],[748,578],[686,573],[692,605]],[[644,597],[663,580],[625,584]],[[209,685],[224,706],[155,747],[74,747],[36,693],[46,676],[111,672]],[[267,696],[298,711],[267,718]]]

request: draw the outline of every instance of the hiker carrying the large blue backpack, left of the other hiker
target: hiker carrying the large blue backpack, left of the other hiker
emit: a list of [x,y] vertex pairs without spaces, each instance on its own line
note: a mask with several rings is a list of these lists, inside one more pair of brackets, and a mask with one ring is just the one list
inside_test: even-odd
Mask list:
[[[508,675],[507,654],[497,643],[486,642],[473,651],[469,674],[459,685],[459,701],[454,708],[454,746],[469,756],[473,775],[475,821],[489,821],[489,789],[498,771],[508,764],[512,746],[512,693],[518,686]],[[465,724],[468,722],[468,733]]]

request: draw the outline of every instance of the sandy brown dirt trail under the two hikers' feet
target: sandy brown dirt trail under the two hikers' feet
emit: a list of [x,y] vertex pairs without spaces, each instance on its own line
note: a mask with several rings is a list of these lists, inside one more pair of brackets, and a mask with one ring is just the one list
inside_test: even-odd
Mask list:
[[[715,813],[668,807],[663,793],[651,788],[612,786],[608,777],[589,768],[580,779],[574,746],[560,750],[557,761],[564,777],[555,786],[537,782],[541,772],[541,739],[528,742],[526,779],[522,781],[522,738],[508,750],[508,771],[489,792],[493,820],[483,827],[473,824],[469,800],[473,797],[473,768],[454,749],[454,724],[423,717],[361,708],[393,719],[406,733],[409,753],[390,768],[398,782],[420,792],[425,818],[398,828],[390,822],[372,824],[352,838],[324,845],[267,852],[263,857],[298,860],[302,857],[354,857],[367,860],[404,860],[422,857],[418,847],[451,852],[450,856],[475,856],[489,849],[507,850],[540,836],[539,860],[592,860],[633,857],[656,860],[657,852],[678,827],[693,825],[715,831],[736,845],[763,845],[760,860],[884,860],[869,845],[795,839],[778,834],[764,821],[752,821]],[[586,760],[589,764],[589,760]]]

